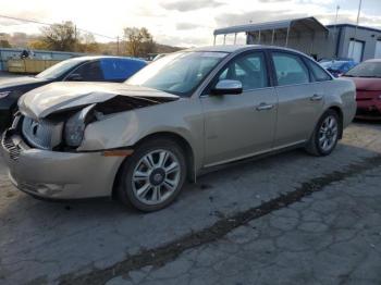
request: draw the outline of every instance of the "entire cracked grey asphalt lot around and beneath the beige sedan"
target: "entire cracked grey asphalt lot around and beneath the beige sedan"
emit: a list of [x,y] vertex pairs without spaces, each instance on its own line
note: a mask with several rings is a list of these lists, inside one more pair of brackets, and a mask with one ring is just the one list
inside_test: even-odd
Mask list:
[[38,201],[0,165],[0,283],[380,284],[380,171],[381,124],[364,122],[330,157],[234,164],[150,214]]

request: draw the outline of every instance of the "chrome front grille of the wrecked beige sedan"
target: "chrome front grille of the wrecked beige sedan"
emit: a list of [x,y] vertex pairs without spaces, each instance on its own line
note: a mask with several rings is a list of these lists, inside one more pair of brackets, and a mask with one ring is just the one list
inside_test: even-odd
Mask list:
[[48,120],[36,121],[24,116],[22,133],[26,141],[33,147],[50,150],[62,139],[63,122]]

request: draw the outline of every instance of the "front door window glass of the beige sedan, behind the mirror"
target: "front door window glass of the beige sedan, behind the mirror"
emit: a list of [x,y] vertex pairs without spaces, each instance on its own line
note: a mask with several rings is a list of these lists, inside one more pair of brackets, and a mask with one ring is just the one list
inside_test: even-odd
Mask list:
[[268,87],[263,53],[248,53],[233,59],[219,76],[219,80],[223,79],[241,82],[244,91]]

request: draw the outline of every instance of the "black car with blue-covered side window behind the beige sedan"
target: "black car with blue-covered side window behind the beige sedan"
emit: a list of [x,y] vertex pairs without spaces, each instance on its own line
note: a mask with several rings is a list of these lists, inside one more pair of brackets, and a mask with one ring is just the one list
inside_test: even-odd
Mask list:
[[3,79],[0,83],[0,127],[8,126],[19,98],[52,82],[118,82],[122,83],[146,62],[119,57],[81,57],[62,61],[36,76]]

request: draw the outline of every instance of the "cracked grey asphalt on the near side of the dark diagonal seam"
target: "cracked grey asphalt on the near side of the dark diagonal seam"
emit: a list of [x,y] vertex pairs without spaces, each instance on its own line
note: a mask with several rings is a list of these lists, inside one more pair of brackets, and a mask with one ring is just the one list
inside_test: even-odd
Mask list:
[[107,284],[380,284],[380,171],[328,186],[162,268]]

